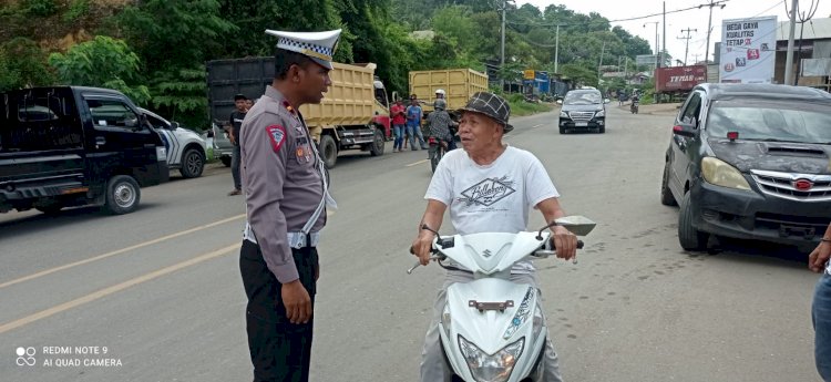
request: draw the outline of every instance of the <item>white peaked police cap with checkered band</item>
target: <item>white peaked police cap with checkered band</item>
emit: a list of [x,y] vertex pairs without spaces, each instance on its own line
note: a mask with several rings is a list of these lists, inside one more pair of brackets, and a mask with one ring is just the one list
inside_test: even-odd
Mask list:
[[331,58],[338,49],[340,31],[338,29],[326,32],[284,32],[266,29],[266,33],[279,38],[278,49],[305,54],[327,69],[332,69]]

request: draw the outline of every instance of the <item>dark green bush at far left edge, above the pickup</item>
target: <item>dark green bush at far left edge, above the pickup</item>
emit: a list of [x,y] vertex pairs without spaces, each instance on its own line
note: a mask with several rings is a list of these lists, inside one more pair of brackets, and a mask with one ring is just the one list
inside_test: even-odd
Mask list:
[[45,85],[54,80],[47,54],[27,38],[0,45],[0,91]]

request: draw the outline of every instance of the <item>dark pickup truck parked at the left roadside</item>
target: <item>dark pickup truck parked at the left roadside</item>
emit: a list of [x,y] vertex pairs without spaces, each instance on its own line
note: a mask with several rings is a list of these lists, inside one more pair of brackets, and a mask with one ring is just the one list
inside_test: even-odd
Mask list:
[[140,187],[167,182],[167,151],[146,116],[109,89],[0,93],[0,213],[138,207]]

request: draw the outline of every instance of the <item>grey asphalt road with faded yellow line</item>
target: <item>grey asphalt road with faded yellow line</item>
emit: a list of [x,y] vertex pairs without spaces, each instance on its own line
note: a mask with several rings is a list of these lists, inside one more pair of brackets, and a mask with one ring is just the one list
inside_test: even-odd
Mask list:
[[[611,105],[606,134],[560,135],[555,120],[515,118],[506,142],[541,158],[567,213],[598,223],[579,264],[537,261],[567,381],[819,381],[817,276],[802,256],[678,246],[677,208],[658,195],[670,114]],[[425,155],[388,143],[380,157],[341,154],[331,171],[340,208],[319,248],[314,381],[418,379],[442,276],[404,272]],[[237,264],[245,206],[230,188],[229,172],[212,168],[144,189],[125,216],[0,215],[0,380],[250,380]],[[542,221],[532,214],[532,228]]]

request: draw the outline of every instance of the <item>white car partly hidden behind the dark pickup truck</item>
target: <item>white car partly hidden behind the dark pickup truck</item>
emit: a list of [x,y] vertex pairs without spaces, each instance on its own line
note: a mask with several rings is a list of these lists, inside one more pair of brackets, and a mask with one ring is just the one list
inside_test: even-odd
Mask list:
[[185,178],[199,177],[205,168],[205,138],[193,130],[179,126],[177,122],[167,122],[146,109],[138,107],[138,110],[147,116],[147,122],[162,135],[164,146],[167,148],[167,166],[171,169],[178,169]]

